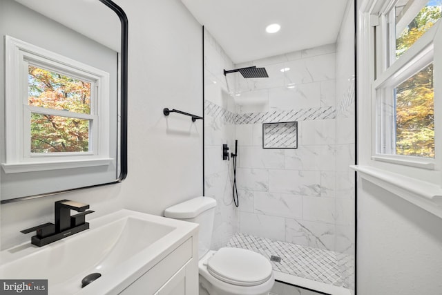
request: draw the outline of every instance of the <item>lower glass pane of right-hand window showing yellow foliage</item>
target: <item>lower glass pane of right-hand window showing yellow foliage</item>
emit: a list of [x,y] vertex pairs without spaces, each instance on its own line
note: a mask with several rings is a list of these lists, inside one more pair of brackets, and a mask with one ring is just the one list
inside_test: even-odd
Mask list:
[[433,64],[394,89],[396,154],[434,158]]

